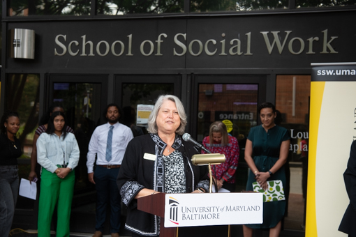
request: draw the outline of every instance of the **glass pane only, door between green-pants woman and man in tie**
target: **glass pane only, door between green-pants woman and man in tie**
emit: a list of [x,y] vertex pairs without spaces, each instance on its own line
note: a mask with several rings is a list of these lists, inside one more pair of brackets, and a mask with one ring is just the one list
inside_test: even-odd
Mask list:
[[87,153],[91,135],[101,118],[101,84],[54,83],[53,101],[59,102],[66,113],[66,124],[73,128],[80,148],[80,158],[75,168],[75,194],[91,190],[87,179]]

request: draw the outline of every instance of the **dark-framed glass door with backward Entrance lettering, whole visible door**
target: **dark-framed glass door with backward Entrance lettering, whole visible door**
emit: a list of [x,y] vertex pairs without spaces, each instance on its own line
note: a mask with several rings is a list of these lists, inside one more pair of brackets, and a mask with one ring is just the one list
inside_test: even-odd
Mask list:
[[209,136],[209,126],[222,121],[228,134],[239,142],[239,164],[235,192],[246,188],[248,167],[244,161],[246,137],[258,124],[257,108],[266,98],[265,76],[196,75],[195,76],[194,135],[198,142]]

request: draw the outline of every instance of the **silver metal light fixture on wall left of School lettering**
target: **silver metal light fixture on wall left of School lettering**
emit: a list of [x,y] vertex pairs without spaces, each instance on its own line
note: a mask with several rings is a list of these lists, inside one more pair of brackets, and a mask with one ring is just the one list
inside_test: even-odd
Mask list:
[[35,59],[34,30],[10,29],[10,57],[15,59]]

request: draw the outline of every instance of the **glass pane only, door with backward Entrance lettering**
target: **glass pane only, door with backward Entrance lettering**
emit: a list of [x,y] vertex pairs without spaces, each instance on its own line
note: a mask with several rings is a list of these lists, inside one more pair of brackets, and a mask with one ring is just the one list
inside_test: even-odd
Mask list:
[[240,153],[236,192],[246,190],[248,169],[244,148],[250,128],[257,125],[257,106],[258,84],[199,85],[197,139],[202,142],[209,135],[209,126],[214,121],[223,121],[228,133],[237,138]]

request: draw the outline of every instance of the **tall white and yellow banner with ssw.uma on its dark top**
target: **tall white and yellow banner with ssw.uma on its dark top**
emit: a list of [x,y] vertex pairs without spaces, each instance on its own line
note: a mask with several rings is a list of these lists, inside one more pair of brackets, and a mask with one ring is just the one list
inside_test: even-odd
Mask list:
[[356,63],[311,66],[306,237],[347,236],[338,229],[349,203],[343,172],[356,139]]

